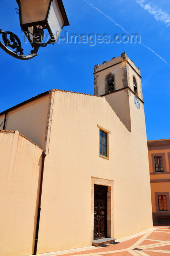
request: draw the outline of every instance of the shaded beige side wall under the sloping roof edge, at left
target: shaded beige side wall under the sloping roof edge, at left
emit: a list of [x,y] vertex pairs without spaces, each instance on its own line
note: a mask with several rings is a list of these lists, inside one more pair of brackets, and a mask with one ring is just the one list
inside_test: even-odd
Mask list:
[[[34,143],[44,149],[49,95],[7,112],[5,130],[18,130],[19,133],[33,140]],[[0,116],[0,123],[4,122],[4,117],[4,114]]]

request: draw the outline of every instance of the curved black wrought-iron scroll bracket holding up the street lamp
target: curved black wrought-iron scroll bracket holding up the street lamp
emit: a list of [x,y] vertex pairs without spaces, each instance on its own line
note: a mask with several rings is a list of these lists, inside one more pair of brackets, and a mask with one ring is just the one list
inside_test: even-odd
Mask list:
[[[10,54],[11,56],[15,57],[19,60],[29,60],[37,56],[38,49],[40,47],[39,44],[34,45],[34,50],[31,50],[29,55],[23,55],[23,49],[21,46],[21,42],[17,35],[10,31],[3,31],[0,29],[0,34],[2,34],[2,39],[4,44],[0,41],[0,48],[3,49],[6,53]],[[7,38],[7,35],[10,35],[10,39]],[[10,50],[8,47],[15,49],[15,51]]]

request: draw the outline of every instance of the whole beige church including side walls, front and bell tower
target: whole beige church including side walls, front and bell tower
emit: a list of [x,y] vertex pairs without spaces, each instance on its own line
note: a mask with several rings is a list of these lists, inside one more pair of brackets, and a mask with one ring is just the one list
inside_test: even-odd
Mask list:
[[[7,184],[1,191],[0,219],[12,200],[21,212],[15,214],[16,205],[11,204],[7,215],[11,226],[8,219],[1,224],[15,233],[10,249],[0,235],[4,256],[35,254],[36,243],[36,253],[86,247],[99,238],[118,239],[152,227],[143,104],[140,70],[122,53],[95,65],[94,95],[52,89],[0,113],[1,177]],[[22,157],[31,154],[29,145],[16,152],[23,172],[28,172],[24,179],[18,175],[18,165],[10,173],[4,160],[8,149],[4,134],[12,140],[12,131],[23,140],[29,138],[27,143],[36,150],[39,147],[34,159]],[[30,161],[35,164],[28,170],[24,166]],[[9,174],[16,177],[11,182]],[[20,182],[33,195],[26,191],[22,195]],[[32,205],[24,211],[27,222],[23,202]]]

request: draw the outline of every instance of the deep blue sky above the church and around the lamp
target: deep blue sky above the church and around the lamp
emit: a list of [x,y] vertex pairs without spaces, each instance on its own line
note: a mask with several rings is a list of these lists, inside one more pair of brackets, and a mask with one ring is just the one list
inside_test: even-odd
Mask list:
[[[170,138],[170,1],[63,0],[69,34],[139,34],[141,43],[66,43],[40,48],[32,60],[15,59],[1,50],[0,112],[50,89],[93,94],[95,64],[126,52],[142,76],[147,139]],[[0,29],[18,35],[29,54],[19,26],[15,0],[1,0]],[[2,39],[0,39],[2,41]]]

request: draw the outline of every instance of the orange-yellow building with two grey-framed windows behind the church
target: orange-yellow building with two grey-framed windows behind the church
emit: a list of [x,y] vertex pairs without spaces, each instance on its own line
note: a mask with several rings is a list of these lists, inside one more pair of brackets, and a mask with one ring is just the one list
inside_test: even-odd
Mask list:
[[[148,140],[153,223],[170,219],[170,139]],[[167,218],[167,216],[169,218]]]

